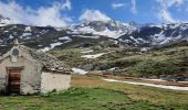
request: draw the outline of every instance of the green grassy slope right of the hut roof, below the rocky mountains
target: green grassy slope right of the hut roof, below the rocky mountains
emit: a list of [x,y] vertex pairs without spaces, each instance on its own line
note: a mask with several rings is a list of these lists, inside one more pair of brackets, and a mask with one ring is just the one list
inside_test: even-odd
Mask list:
[[[85,47],[87,48],[87,47]],[[90,50],[94,50],[94,47],[90,47]],[[136,77],[150,77],[150,76],[160,76],[160,75],[178,75],[184,74],[187,75],[188,68],[188,46],[180,47],[169,47],[169,48],[160,48],[160,50],[152,50],[147,53],[142,53],[137,48],[119,48],[119,47],[102,47],[101,50],[94,50],[92,53],[87,54],[96,54],[96,53],[108,53],[95,59],[87,59],[81,57],[85,55],[81,53],[81,48],[66,48],[66,50],[54,50],[51,51],[51,54],[55,55],[59,59],[63,61],[70,67],[79,67],[86,70],[107,70],[109,75],[118,75],[118,76],[136,76]],[[147,68],[152,68],[147,66],[147,61],[153,61],[154,64],[159,64],[154,69],[147,70]],[[169,62],[170,61],[170,62]],[[144,64],[144,68],[143,67]],[[166,68],[164,70],[164,66],[160,64],[165,64]],[[177,70],[171,69],[171,65]],[[140,66],[140,67],[139,67]],[[116,67],[115,70],[108,70],[111,68]],[[148,72],[149,74],[145,73]],[[174,72],[174,73],[171,73]]]

